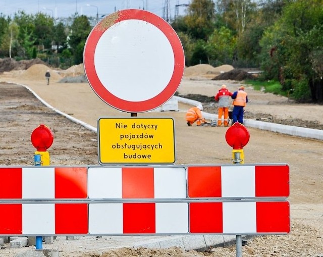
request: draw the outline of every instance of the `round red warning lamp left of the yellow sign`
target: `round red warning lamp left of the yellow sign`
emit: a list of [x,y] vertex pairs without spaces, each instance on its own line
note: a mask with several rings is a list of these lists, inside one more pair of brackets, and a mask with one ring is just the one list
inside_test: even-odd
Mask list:
[[31,143],[37,151],[46,151],[51,146],[53,140],[52,132],[44,124],[40,124],[31,133]]

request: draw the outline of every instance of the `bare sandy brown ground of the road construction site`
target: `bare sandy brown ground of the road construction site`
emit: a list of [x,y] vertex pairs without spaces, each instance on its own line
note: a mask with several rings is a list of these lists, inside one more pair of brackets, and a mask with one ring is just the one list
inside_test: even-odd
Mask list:
[[[42,71],[41,71],[42,72]],[[99,117],[129,117],[104,104],[87,83],[58,83],[53,79],[45,85],[44,76],[17,77],[16,73],[0,75],[0,81],[28,85],[51,106],[96,127]],[[184,78],[179,94],[212,97],[226,83],[236,90],[241,82],[210,81],[204,77]],[[246,86],[250,103],[246,115],[272,115],[281,120],[299,119],[303,124],[322,124],[322,106],[297,105],[285,97],[264,94]],[[212,106],[216,113],[216,102]],[[176,129],[176,164],[230,164],[231,147],[225,141],[224,127],[187,127],[185,112],[189,106],[179,104],[179,112],[149,112],[139,117],[172,117]],[[211,107],[210,107],[211,108]],[[35,149],[30,134],[39,124],[55,133],[49,152],[51,165],[97,165],[97,135],[43,106],[27,89],[7,83],[0,84],[0,165],[32,165]],[[245,163],[288,163],[290,165],[291,233],[289,235],[257,236],[243,246],[243,256],[322,256],[323,254],[323,142],[248,128],[250,141],[244,148]],[[104,237],[103,237],[104,239]],[[108,239],[108,238],[106,238]],[[95,243],[94,243],[95,244]],[[204,252],[184,252],[179,248],[146,249],[116,248],[102,252],[71,249],[61,246],[60,256],[235,256],[235,247],[218,247]],[[64,249],[64,250],[63,250]],[[0,255],[12,257],[24,249],[0,249]],[[10,252],[10,253],[2,253]]]

